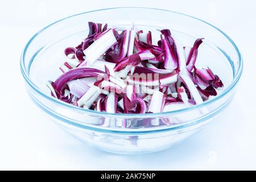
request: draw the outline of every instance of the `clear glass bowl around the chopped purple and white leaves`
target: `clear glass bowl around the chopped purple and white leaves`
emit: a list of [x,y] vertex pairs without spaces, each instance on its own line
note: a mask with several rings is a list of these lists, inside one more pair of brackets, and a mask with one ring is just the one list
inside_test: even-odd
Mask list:
[[[213,69],[224,82],[224,90],[201,105],[155,114],[100,113],[56,100],[50,96],[46,81],[61,75],[64,48],[76,46],[88,35],[89,21],[111,27],[130,27],[134,23],[142,30],[170,28],[186,46],[204,38],[197,67]],[[174,146],[224,110],[240,79],[242,57],[224,32],[203,20],[167,10],[122,7],[69,16],[43,28],[24,48],[20,67],[32,100],[65,131],[101,150],[137,154]]]

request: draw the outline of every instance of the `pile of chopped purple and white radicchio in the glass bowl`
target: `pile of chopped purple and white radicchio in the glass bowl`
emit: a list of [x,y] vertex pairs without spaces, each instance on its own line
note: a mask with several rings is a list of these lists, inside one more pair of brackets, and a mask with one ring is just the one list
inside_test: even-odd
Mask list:
[[201,104],[222,81],[210,68],[195,67],[203,39],[183,47],[168,29],[118,30],[89,22],[89,35],[64,50],[67,61],[55,82],[57,99],[108,113],[160,113]]

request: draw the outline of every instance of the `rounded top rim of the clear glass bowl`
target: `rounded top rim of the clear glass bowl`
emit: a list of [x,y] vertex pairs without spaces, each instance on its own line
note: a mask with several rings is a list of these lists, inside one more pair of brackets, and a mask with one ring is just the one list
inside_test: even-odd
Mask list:
[[[73,16],[79,16],[79,15],[83,15],[83,14],[88,14],[88,13],[93,13],[93,12],[97,12],[97,11],[105,11],[105,10],[114,10],[114,9],[148,9],[148,10],[158,10],[158,11],[166,11],[166,12],[170,12],[170,13],[174,13],[174,14],[179,14],[179,15],[183,15],[183,16],[187,16],[189,18],[198,20],[200,22],[203,22],[205,24],[207,24],[208,26],[216,29],[217,31],[219,31],[222,35],[225,36],[225,38],[227,38],[229,40],[229,42],[232,44],[232,46],[234,47],[234,49],[237,52],[238,55],[238,70],[236,75],[233,77],[233,81],[232,83],[228,86],[228,88],[224,89],[220,94],[218,94],[216,97],[212,98],[211,100],[205,101],[202,104],[199,105],[194,105],[191,107],[187,107],[184,109],[179,109],[179,110],[174,110],[174,111],[167,111],[167,112],[162,112],[162,113],[146,113],[146,114],[123,114],[123,113],[104,113],[101,111],[94,111],[94,110],[90,110],[90,109],[84,109],[82,107],[77,107],[77,106],[73,106],[71,104],[68,104],[66,102],[57,100],[55,97],[52,96],[48,96],[47,94],[44,94],[40,88],[38,88],[38,86],[36,86],[32,80],[30,79],[29,73],[26,70],[26,66],[24,64],[24,58],[26,56],[26,52],[28,47],[30,46],[31,42],[36,38],[36,36],[38,36],[41,32],[43,32],[44,30],[46,30],[47,28],[55,25],[56,23],[59,23],[65,19],[68,18],[72,18]],[[191,110],[195,110],[195,109],[200,109],[201,107],[207,106],[209,104],[212,104],[213,102],[216,102],[217,100],[219,100],[220,98],[224,97],[227,93],[229,93],[230,90],[232,90],[234,88],[234,86],[237,85],[237,82],[240,80],[240,77],[242,75],[242,70],[243,70],[243,59],[242,59],[242,55],[241,52],[239,51],[238,47],[236,46],[236,44],[233,42],[233,40],[231,38],[229,38],[228,35],[225,34],[225,32],[221,31],[219,28],[213,26],[212,24],[205,22],[204,20],[201,20],[199,18],[195,18],[191,15],[187,15],[187,14],[183,14],[183,13],[178,13],[176,11],[171,11],[171,10],[164,10],[164,9],[156,9],[156,8],[152,8],[152,7],[111,7],[108,9],[99,9],[99,10],[93,10],[93,11],[86,11],[84,13],[79,13],[79,14],[75,14],[75,15],[71,15],[71,16],[67,16],[66,18],[57,20],[56,22],[53,22],[51,24],[49,24],[48,26],[42,28],[41,30],[39,30],[38,32],[36,32],[36,34],[34,36],[32,36],[32,38],[28,41],[28,43],[26,44],[26,46],[24,47],[22,54],[20,56],[20,69],[22,72],[22,75],[24,77],[24,79],[26,80],[26,83],[38,94],[40,94],[41,96],[43,96],[44,98],[46,98],[49,101],[53,101],[55,102],[55,104],[67,107],[68,109],[71,110],[76,110],[76,111],[80,111],[81,113],[86,113],[86,114],[92,114],[92,115],[97,115],[99,117],[115,117],[115,118],[151,118],[151,117],[163,117],[166,115],[170,115],[170,114],[178,114],[178,113],[184,113],[185,111],[191,111]],[[233,68],[232,68],[233,69]],[[234,71],[234,70],[233,70]],[[185,122],[187,123],[187,122]],[[184,124],[185,124],[184,123]]]

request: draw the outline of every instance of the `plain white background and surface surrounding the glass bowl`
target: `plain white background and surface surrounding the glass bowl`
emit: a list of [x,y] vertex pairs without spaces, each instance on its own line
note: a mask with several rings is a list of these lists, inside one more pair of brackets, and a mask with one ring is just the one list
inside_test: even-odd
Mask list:
[[[204,19],[226,32],[243,55],[243,75],[232,104],[200,133],[155,154],[108,154],[73,139],[32,104],[19,69],[23,47],[47,24],[84,11],[121,6],[168,9]],[[0,169],[256,169],[255,17],[252,0],[2,2]]]

